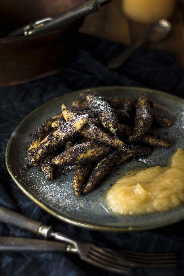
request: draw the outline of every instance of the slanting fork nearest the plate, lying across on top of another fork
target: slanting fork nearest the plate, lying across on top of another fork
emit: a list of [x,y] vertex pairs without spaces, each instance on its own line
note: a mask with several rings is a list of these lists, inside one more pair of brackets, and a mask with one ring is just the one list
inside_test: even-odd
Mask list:
[[[59,232],[54,232],[51,225],[44,225],[41,222],[34,221],[33,219],[2,206],[0,206],[0,221],[39,234],[46,239],[54,238],[55,240],[63,241],[68,244],[67,247],[65,245],[66,252],[76,253],[83,261],[101,269],[128,275],[129,272],[132,271],[130,267],[133,268],[135,266],[129,261],[121,260],[119,257],[116,257],[113,250],[109,252],[93,243],[73,240]],[[60,244],[63,247],[63,243]]]

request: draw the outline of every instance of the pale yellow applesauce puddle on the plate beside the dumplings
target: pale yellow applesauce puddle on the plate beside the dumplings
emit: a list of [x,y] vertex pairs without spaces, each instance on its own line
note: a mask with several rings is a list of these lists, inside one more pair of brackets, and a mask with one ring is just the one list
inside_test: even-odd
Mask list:
[[184,150],[178,148],[166,167],[126,172],[106,193],[114,213],[146,214],[166,211],[184,201]]

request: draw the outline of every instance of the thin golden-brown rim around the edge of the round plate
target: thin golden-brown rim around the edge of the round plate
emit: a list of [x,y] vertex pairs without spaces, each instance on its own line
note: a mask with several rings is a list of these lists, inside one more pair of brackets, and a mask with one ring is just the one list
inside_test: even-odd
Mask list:
[[[171,97],[175,100],[179,100],[180,102],[184,103],[184,99],[169,94],[167,92],[162,92],[156,89],[151,89],[151,88],[146,88],[146,87],[137,87],[137,86],[122,86],[122,85],[116,85],[116,86],[97,86],[97,87],[90,87],[90,88],[84,88],[84,89],[78,89],[76,91],[72,91],[68,94],[78,94],[79,91],[83,91],[83,90],[91,90],[91,89],[99,89],[99,88],[106,88],[106,89],[115,89],[115,88],[122,88],[122,89],[132,89],[132,90],[141,90],[141,91],[146,91],[146,92],[150,92],[150,93],[156,93],[156,94],[161,94],[161,95],[166,95],[167,97]],[[12,134],[14,132],[16,132],[16,129],[18,129],[20,127],[20,125],[22,123],[24,123],[24,121],[26,120],[26,118],[28,116],[31,116],[33,113],[37,112],[40,108],[42,108],[44,105],[47,105],[48,103],[51,103],[52,101],[54,101],[55,99],[58,99],[60,97],[62,97],[64,95],[61,95],[57,98],[54,98],[44,104],[42,104],[41,106],[35,108],[33,111],[31,111],[28,115],[26,115],[22,121],[20,121],[20,123],[17,125],[17,127],[14,129],[14,131],[12,132]],[[11,178],[13,179],[13,181],[15,182],[15,184],[19,187],[19,189],[30,199],[32,200],[35,204],[37,204],[39,207],[41,207],[44,211],[46,211],[47,213],[51,214],[52,216],[56,217],[57,219],[60,219],[64,222],[70,223],[74,226],[78,226],[78,227],[83,227],[89,230],[100,230],[100,231],[110,231],[110,232],[131,232],[131,231],[142,231],[142,230],[151,230],[151,229],[156,229],[156,228],[161,228],[170,224],[174,224],[177,223],[179,221],[182,221],[184,219],[184,214],[183,217],[180,217],[178,219],[172,220],[170,222],[164,222],[162,224],[158,224],[158,225],[153,225],[153,226],[148,226],[148,227],[134,227],[134,226],[128,226],[128,227],[115,227],[115,226],[103,226],[103,225],[98,225],[98,224],[89,224],[89,223],[85,223],[85,222],[81,222],[79,220],[75,220],[75,219],[71,219],[68,218],[65,215],[61,215],[58,214],[56,211],[54,211],[54,209],[52,209],[52,207],[47,207],[47,205],[45,203],[42,203],[39,199],[36,198],[36,196],[34,196],[21,182],[19,182],[14,175],[11,172],[11,167],[10,167],[10,145],[13,139],[13,135],[11,134],[10,139],[7,143],[6,146],[6,153],[5,153],[5,162],[6,162],[6,168],[7,171],[9,172]]]

